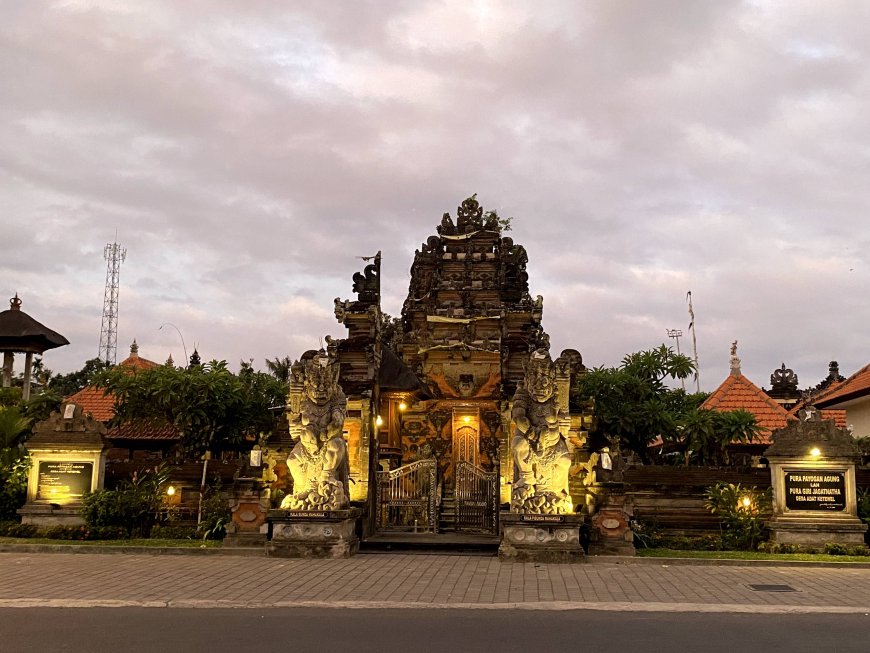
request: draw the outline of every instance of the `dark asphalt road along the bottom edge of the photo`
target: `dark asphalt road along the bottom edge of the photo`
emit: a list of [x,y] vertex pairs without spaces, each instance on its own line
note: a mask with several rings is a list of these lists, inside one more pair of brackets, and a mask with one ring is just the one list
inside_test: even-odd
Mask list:
[[0,609],[4,653],[861,652],[864,615],[528,610]]

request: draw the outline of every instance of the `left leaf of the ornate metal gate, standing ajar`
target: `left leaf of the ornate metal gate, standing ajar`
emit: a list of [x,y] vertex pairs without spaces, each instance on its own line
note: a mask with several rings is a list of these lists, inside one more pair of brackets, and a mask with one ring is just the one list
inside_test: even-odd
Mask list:
[[437,533],[437,470],[435,459],[430,458],[377,472],[377,530]]

